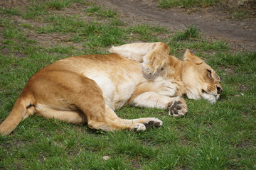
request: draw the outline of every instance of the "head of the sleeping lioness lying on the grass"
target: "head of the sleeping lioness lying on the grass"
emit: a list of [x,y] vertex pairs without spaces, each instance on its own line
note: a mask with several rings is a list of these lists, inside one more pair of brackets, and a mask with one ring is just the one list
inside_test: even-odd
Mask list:
[[188,98],[203,98],[215,103],[223,91],[218,74],[190,50],[186,50],[183,61],[182,81]]

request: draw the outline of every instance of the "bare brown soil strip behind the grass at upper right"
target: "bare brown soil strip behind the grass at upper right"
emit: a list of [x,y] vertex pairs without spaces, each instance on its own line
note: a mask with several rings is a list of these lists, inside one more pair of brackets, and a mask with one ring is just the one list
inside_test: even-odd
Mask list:
[[223,7],[161,9],[156,0],[95,0],[101,6],[113,8],[124,21],[151,23],[170,30],[183,30],[191,24],[198,26],[206,38],[228,40],[236,50],[256,49],[256,18],[235,20]]

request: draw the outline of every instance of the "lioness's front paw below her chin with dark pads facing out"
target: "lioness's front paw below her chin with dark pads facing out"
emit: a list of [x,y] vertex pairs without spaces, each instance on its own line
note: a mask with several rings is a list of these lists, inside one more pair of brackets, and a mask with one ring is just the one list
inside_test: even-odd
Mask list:
[[169,103],[169,115],[174,117],[183,117],[188,112],[186,101],[183,98],[176,98],[174,101]]

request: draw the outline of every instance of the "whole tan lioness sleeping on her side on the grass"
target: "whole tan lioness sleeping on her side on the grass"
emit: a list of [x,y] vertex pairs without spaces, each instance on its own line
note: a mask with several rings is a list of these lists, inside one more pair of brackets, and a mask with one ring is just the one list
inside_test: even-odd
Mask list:
[[65,58],[36,72],[1,123],[1,135],[34,114],[87,123],[96,130],[146,130],[163,123],[157,118],[121,119],[114,110],[124,105],[163,108],[178,117],[187,113],[183,95],[210,103],[220,97],[220,78],[189,50],[183,61],[169,55],[164,42],[127,44],[110,52]]

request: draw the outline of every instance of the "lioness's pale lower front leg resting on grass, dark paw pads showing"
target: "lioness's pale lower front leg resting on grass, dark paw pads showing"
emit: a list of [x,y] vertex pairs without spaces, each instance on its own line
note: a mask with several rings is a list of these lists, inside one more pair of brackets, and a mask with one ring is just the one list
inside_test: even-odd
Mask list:
[[156,94],[154,91],[148,91],[139,94],[132,101],[132,106],[139,106],[142,108],[161,108],[168,109],[169,115],[174,117],[182,117],[186,115],[188,108],[186,101],[181,97],[168,97]]

